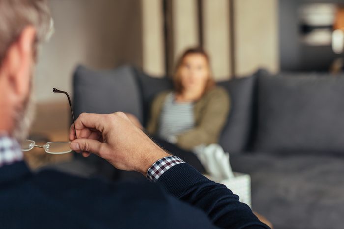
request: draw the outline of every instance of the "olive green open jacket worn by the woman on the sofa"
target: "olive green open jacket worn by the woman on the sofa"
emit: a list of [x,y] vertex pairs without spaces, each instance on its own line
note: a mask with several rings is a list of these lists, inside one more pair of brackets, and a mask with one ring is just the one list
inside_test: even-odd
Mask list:
[[[158,131],[161,109],[166,96],[171,91],[158,94],[151,105],[147,132],[156,134]],[[221,130],[229,114],[230,97],[225,89],[215,87],[206,92],[194,106],[195,127],[176,136],[177,145],[190,150],[200,144],[218,143]]]

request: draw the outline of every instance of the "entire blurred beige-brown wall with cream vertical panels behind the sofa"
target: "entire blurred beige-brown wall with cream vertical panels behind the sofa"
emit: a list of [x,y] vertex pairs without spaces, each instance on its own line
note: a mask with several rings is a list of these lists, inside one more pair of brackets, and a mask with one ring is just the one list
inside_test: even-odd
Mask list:
[[259,66],[278,70],[277,0],[49,0],[55,33],[36,70],[38,102],[64,101],[77,64],[134,64],[172,74],[189,46],[203,45],[216,79]]

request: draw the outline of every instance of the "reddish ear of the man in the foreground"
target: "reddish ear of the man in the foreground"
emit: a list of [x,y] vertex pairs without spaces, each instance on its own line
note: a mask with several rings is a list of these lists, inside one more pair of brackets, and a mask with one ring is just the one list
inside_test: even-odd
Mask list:
[[13,93],[19,100],[24,100],[31,84],[34,65],[34,43],[36,29],[25,27],[18,39],[8,49],[5,64]]

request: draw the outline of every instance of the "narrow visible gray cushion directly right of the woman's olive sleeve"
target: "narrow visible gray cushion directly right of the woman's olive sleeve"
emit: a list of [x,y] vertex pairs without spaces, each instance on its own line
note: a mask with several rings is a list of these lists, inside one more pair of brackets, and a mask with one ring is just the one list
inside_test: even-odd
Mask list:
[[229,153],[245,150],[251,131],[253,87],[255,75],[218,83],[231,98],[228,120],[220,137],[220,145]]

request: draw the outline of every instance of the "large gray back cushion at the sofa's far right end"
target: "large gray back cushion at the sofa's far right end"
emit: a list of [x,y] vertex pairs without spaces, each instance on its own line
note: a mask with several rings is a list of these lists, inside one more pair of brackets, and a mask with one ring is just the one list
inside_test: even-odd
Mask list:
[[260,76],[257,96],[255,151],[344,153],[344,76]]

